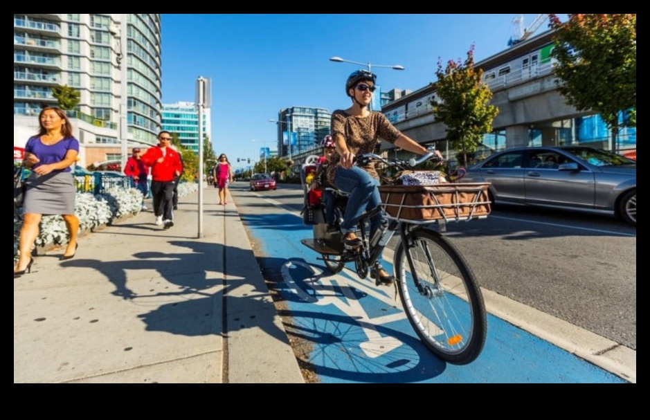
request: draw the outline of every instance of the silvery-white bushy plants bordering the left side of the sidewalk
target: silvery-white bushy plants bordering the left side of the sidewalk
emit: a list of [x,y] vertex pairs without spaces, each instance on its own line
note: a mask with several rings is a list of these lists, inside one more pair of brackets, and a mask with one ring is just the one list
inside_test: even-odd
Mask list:
[[[180,183],[179,197],[185,197],[199,189],[197,183]],[[142,193],[136,188],[123,190],[111,188],[105,194],[93,195],[78,192],[75,214],[79,217],[80,231],[92,232],[98,226],[105,226],[115,219],[138,214],[142,206]],[[19,212],[21,209],[19,209]],[[14,263],[18,260],[18,242],[23,221],[14,215]],[[63,245],[68,242],[68,231],[61,216],[44,216],[35,246]]]

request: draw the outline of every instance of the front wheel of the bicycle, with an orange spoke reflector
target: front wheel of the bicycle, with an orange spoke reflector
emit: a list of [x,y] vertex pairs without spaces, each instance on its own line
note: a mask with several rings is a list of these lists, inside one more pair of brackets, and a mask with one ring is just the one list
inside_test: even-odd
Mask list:
[[[458,250],[437,232],[418,229],[395,250],[399,297],[433,354],[455,365],[475,360],[487,334],[478,282]],[[413,261],[409,264],[407,253]]]

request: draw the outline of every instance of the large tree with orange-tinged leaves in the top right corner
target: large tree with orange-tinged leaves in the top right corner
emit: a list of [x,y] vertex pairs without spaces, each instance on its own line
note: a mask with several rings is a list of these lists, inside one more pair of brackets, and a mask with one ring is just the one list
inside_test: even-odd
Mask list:
[[596,111],[616,152],[621,127],[636,127],[636,14],[549,15],[558,91],[578,111]]

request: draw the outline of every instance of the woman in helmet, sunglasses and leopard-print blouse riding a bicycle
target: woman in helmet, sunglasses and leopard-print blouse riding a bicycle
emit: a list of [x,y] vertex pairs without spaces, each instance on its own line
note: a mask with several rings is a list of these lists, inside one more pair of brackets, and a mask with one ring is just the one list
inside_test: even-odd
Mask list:
[[[332,113],[331,134],[337,153],[332,156],[327,167],[327,179],[338,190],[350,194],[341,223],[341,233],[347,248],[361,246],[361,239],[356,237],[359,217],[363,212],[379,206],[380,202],[377,189],[379,175],[374,169],[374,163],[356,166],[355,156],[373,153],[381,139],[409,152],[420,155],[427,153],[425,147],[402,134],[383,113],[368,110],[376,81],[377,76],[369,71],[354,71],[345,82],[345,93],[352,99],[352,106]],[[370,237],[379,228],[382,217],[379,213],[370,220]],[[381,266],[377,266],[376,275],[383,284],[391,284],[395,280]]]

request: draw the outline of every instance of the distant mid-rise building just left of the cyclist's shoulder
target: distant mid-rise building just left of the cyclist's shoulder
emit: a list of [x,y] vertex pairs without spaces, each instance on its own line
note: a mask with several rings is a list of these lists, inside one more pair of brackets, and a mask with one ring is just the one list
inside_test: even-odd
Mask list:
[[[314,149],[329,134],[332,113],[324,108],[291,107],[278,113],[278,151],[289,157]],[[287,128],[288,126],[288,128]],[[287,133],[290,135],[287,136]],[[291,149],[289,149],[291,141]]]

